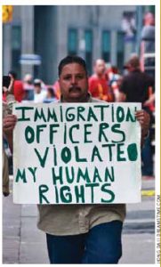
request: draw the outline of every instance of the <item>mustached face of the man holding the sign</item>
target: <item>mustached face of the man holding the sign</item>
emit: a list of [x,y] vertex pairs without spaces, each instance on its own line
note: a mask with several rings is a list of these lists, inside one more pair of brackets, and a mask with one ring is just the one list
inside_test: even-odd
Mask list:
[[63,101],[87,101],[88,79],[82,65],[78,63],[65,65],[61,71],[59,83]]

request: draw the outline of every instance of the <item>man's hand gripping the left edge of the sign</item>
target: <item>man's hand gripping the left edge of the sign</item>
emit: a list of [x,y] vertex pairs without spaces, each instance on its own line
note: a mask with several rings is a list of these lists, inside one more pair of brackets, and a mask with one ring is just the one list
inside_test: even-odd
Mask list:
[[16,125],[17,117],[15,115],[7,115],[3,118],[3,133],[6,136],[12,135],[12,131]]

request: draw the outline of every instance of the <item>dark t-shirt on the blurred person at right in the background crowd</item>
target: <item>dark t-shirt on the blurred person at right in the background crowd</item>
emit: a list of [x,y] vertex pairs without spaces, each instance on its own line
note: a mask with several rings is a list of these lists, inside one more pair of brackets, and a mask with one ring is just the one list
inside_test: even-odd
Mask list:
[[153,77],[149,77],[140,70],[135,70],[123,78],[120,92],[125,93],[126,102],[143,103],[149,99],[149,86],[153,88],[154,92],[155,82]]

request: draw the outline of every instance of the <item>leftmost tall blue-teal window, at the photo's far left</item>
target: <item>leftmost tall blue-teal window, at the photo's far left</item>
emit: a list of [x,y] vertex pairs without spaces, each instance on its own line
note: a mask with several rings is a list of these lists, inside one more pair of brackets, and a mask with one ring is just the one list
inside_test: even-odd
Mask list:
[[12,70],[20,78],[20,54],[21,54],[21,27],[20,25],[12,26]]

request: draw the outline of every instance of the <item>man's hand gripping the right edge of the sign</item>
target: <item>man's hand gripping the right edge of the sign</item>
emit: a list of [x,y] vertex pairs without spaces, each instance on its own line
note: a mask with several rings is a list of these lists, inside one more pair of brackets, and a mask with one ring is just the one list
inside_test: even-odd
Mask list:
[[147,113],[145,110],[138,110],[135,113],[135,117],[141,124],[141,137],[144,138],[149,131],[149,113]]

